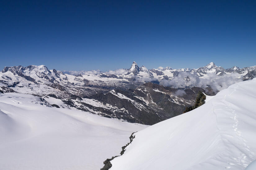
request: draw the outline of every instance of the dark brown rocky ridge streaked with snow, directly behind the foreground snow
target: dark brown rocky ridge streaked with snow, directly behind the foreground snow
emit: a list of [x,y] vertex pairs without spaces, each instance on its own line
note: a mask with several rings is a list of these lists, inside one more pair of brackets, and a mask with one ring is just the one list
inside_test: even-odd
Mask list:
[[[182,89],[184,94],[179,96],[176,94],[178,90],[181,89],[148,82],[136,89],[114,89],[86,98],[69,95],[62,101],[71,107],[107,118],[152,125],[182,114],[186,107],[194,105],[198,91],[205,92],[202,88],[194,87]],[[56,98],[54,95],[52,97]]]

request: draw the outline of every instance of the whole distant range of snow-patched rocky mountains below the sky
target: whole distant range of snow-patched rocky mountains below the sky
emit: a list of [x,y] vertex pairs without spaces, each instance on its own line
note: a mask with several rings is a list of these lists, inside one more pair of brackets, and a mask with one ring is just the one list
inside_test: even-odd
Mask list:
[[47,106],[151,125],[182,114],[194,105],[199,91],[214,95],[234,81],[256,77],[256,66],[224,69],[209,63],[198,69],[148,70],[133,62],[121,73],[67,73],[44,65],[5,67],[0,73],[0,92],[33,94]]

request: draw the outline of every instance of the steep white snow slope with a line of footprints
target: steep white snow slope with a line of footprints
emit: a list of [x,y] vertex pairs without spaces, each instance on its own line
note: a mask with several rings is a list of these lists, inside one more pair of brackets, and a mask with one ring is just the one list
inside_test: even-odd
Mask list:
[[243,170],[256,159],[256,79],[135,134],[110,170]]

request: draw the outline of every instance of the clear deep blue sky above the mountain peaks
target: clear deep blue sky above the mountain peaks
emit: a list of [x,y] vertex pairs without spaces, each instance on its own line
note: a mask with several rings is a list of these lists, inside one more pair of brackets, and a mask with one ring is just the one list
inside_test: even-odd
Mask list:
[[256,65],[256,1],[0,1],[0,69]]

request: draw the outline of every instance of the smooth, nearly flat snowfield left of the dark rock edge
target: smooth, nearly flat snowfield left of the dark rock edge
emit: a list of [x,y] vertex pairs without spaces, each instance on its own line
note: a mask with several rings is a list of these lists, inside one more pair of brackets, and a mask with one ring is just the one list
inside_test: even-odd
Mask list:
[[0,93],[1,170],[95,170],[147,126]]

